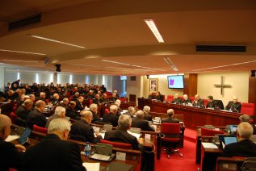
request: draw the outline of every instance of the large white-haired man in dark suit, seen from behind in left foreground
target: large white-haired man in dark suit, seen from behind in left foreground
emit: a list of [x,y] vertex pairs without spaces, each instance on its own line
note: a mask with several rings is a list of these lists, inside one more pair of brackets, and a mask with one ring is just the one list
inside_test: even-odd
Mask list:
[[78,144],[67,141],[69,131],[70,123],[66,119],[53,119],[48,136],[25,153],[23,170],[85,171]]

